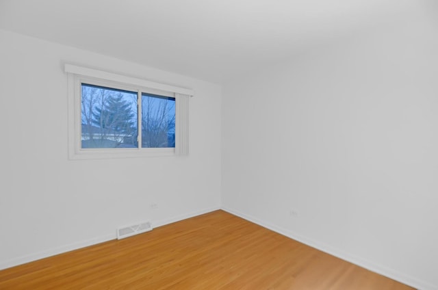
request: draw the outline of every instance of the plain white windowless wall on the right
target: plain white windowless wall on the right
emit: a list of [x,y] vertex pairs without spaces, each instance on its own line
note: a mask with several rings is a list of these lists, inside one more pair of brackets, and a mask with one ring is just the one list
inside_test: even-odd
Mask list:
[[224,85],[222,206],[438,289],[437,27],[413,15]]

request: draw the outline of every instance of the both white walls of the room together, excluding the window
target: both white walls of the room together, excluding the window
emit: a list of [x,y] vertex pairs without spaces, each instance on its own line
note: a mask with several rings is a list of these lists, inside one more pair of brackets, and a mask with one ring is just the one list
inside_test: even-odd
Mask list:
[[[233,213],[438,289],[436,27],[419,17],[364,32],[235,79],[223,96],[0,30],[0,269],[216,209],[222,186]],[[68,161],[64,62],[194,89],[190,157]]]

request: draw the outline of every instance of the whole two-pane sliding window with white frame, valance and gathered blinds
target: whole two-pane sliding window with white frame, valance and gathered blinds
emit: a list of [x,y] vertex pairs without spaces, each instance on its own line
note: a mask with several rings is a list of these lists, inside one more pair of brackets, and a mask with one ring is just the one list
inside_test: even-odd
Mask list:
[[70,159],[188,154],[192,91],[69,64],[65,70]]

